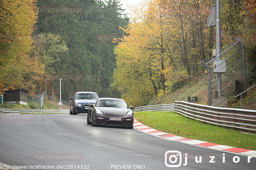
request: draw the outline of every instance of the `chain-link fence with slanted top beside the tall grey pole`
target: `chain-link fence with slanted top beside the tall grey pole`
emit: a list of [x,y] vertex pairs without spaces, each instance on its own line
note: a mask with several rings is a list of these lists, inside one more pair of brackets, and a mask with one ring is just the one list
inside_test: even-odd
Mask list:
[[[220,53],[200,63],[208,72],[208,105],[227,107],[228,101],[246,90],[244,43],[237,39]],[[221,74],[221,79],[217,74]]]

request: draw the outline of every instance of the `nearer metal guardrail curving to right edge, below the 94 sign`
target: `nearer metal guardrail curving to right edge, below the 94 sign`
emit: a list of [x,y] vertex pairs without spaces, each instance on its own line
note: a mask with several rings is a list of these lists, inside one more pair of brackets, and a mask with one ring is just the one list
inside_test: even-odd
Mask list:
[[256,133],[256,110],[220,108],[175,101],[174,112],[205,123]]

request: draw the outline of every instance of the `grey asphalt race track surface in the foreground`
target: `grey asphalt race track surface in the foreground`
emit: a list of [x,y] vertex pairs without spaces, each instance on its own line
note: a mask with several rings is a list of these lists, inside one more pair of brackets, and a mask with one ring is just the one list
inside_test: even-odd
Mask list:
[[[180,160],[171,156],[173,152],[167,154],[167,165],[197,170],[256,167],[256,158],[248,163],[247,156],[169,141],[135,129],[94,127],[86,124],[86,118],[69,114],[0,115],[0,162],[27,166],[23,169],[163,170],[173,168],[165,165],[165,152],[180,151],[183,157],[188,154],[187,165],[182,159],[179,166]],[[196,163],[196,155],[202,157],[201,163]],[[210,163],[209,156],[215,162]],[[233,158],[240,161],[235,163]]]

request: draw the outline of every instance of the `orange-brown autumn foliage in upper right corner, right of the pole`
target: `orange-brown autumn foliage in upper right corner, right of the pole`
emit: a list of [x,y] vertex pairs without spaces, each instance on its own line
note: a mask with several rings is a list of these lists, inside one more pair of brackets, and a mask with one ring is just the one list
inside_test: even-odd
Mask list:
[[223,0],[221,4],[221,27],[223,46],[241,39],[245,44],[246,79],[248,84],[256,83],[256,4],[253,0]]

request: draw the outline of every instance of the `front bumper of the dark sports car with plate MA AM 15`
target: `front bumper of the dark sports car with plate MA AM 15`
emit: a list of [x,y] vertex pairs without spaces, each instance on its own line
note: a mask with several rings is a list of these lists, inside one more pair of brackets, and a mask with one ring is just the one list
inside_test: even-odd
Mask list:
[[[121,118],[121,121],[110,120],[110,118]],[[98,115],[94,117],[93,124],[108,126],[126,126],[133,127],[133,116],[116,116],[116,115]]]

